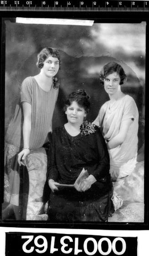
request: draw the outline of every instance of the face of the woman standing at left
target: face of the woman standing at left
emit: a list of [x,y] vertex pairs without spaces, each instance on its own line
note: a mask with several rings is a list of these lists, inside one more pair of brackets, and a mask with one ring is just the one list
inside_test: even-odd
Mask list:
[[57,74],[58,69],[59,69],[59,60],[49,55],[43,63],[43,67],[42,67],[43,73],[47,77],[53,77],[54,75]]

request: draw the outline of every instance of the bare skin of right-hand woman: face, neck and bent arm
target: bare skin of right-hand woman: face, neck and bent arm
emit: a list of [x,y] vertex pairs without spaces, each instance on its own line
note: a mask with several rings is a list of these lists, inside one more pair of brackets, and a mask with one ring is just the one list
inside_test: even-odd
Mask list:
[[[104,79],[104,89],[108,93],[111,104],[125,96],[121,91],[121,85],[119,83],[120,76],[117,72],[107,75]],[[131,118],[121,122],[119,133],[107,143],[108,149],[116,148],[124,142],[132,122],[133,120]]]

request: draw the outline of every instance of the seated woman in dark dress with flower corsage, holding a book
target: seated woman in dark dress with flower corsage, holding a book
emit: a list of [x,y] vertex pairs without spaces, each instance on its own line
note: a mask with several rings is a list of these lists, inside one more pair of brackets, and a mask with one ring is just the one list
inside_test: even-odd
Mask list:
[[[109,155],[100,129],[83,122],[90,110],[84,90],[72,92],[65,103],[68,122],[51,135],[47,176],[51,195],[48,219],[52,222],[105,222],[113,206]],[[82,169],[88,177],[72,185]]]

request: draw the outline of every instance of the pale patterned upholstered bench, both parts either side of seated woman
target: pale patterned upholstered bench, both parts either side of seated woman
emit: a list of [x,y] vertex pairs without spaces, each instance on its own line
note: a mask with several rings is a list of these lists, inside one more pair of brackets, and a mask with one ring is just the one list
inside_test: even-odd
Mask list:
[[[46,182],[47,157],[44,148],[34,150],[26,159],[29,195],[26,220],[47,220],[43,191]],[[144,222],[144,161],[137,162],[131,175],[116,181],[114,190],[123,198],[123,205],[108,222]]]

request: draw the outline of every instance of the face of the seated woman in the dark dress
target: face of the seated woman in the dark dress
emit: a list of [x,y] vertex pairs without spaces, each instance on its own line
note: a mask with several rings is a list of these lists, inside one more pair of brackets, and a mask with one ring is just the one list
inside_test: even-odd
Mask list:
[[73,101],[70,106],[67,107],[66,110],[68,123],[71,124],[79,124],[83,123],[84,117],[86,117],[86,112],[83,107],[78,106],[76,101]]

